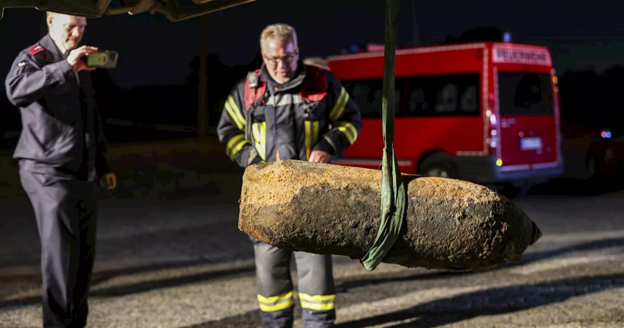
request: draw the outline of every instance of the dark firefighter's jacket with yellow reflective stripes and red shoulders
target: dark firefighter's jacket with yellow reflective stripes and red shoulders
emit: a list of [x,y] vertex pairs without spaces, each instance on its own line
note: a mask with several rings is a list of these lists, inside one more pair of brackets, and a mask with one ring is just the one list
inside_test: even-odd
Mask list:
[[236,84],[217,127],[232,161],[241,167],[276,159],[307,161],[317,150],[338,157],[356,141],[362,127],[359,109],[334,74],[323,70],[327,83],[316,89],[326,88],[324,97],[306,99],[302,82],[314,69],[319,68],[300,62],[298,74],[285,84],[273,81],[265,69],[257,71],[266,91],[250,109],[244,100],[247,78]]

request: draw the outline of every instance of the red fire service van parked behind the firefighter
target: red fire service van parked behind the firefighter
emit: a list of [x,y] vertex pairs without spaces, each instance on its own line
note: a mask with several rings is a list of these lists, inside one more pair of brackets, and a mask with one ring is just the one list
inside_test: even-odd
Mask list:
[[[363,128],[335,164],[377,169],[383,46],[328,57]],[[563,172],[557,76],[546,47],[464,42],[397,48],[395,144],[401,172],[526,189]]]

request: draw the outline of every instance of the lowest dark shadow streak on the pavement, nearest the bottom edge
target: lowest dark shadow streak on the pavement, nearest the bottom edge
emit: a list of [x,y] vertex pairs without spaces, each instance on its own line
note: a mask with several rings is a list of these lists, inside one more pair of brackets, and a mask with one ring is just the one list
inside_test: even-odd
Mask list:
[[[533,307],[563,302],[570,297],[620,287],[624,287],[624,275],[580,277],[540,284],[521,284],[469,292],[455,297],[426,302],[402,311],[343,322],[336,327],[370,327],[397,321],[409,322],[390,327],[438,327],[479,316],[523,311]],[[299,312],[298,309],[295,309],[296,317],[300,317]],[[614,311],[613,316],[615,317],[614,322],[617,317],[624,319],[624,314],[620,311]],[[249,311],[217,321],[207,321],[183,328],[258,327],[260,325],[258,311]]]

